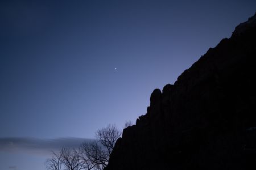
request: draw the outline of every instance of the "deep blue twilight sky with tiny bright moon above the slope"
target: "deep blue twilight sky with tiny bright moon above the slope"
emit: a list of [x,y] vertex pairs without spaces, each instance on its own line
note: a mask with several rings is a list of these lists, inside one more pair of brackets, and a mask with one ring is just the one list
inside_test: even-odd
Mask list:
[[135,122],[155,88],[255,10],[252,0],[0,1],[0,169],[44,169],[54,147],[35,154],[34,143]]

